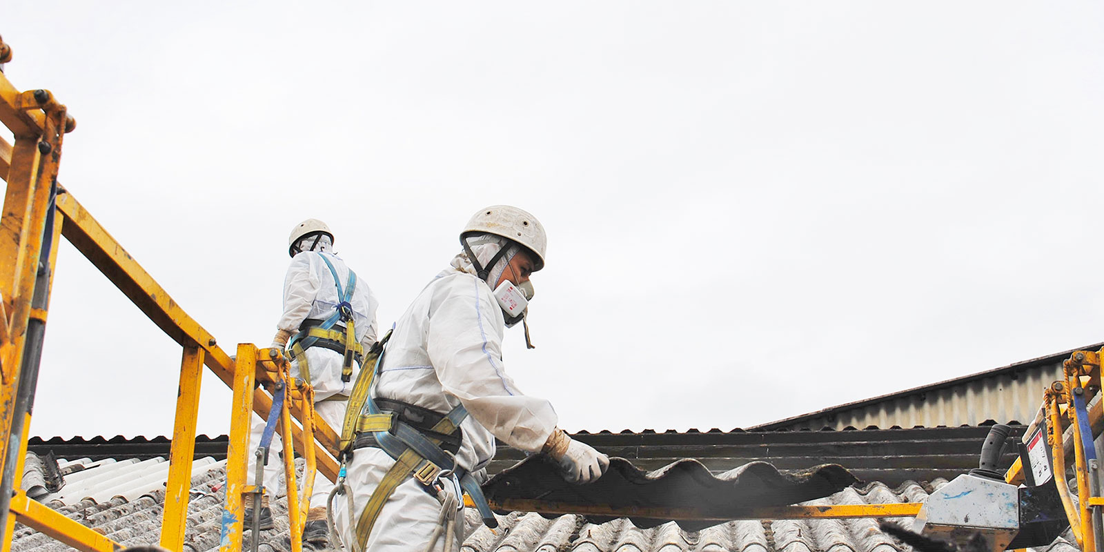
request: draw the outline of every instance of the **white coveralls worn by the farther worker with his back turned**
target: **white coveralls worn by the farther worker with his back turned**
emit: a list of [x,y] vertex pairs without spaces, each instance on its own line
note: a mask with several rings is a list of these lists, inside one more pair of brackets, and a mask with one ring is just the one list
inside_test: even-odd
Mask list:
[[[321,252],[317,251],[321,250]],[[284,278],[284,315],[280,317],[277,327],[282,330],[290,331],[294,336],[299,332],[299,327],[307,319],[325,320],[333,314],[335,308],[340,302],[337,286],[333,285],[333,275],[322,261],[321,255],[333,264],[338,277],[341,279],[341,287],[344,288],[349,282],[349,267],[341,257],[329,253],[329,240],[325,240],[316,251],[305,251],[297,254],[291,259],[291,265],[287,268]],[[353,325],[358,342],[368,351],[376,341],[378,326],[375,321],[375,310],[379,302],[368,284],[360,275],[357,275],[357,284],[353,288],[352,305]],[[340,320],[333,329],[344,328],[344,322]],[[344,422],[347,399],[352,392],[352,385],[357,381],[359,369],[353,362],[352,378],[348,382],[341,381],[341,364],[343,355],[337,351],[323,347],[311,347],[304,351],[307,357],[307,364],[310,372],[310,384],[315,388],[315,412],[337,433],[341,433],[341,425]],[[291,361],[291,376],[299,376],[298,361]],[[264,421],[254,424],[251,438],[250,450],[253,450],[261,443],[261,433],[264,431]],[[268,464],[265,466],[265,485],[272,489],[279,489],[284,481],[284,464],[279,461],[277,453],[283,450],[279,435],[273,436],[273,444],[268,456]],[[253,455],[250,455],[247,477],[253,480],[254,464]],[[326,506],[326,498],[333,486],[325,476],[315,478],[315,489],[311,493],[310,506]],[[278,493],[278,492],[277,492]],[[274,493],[268,493],[275,496]]]

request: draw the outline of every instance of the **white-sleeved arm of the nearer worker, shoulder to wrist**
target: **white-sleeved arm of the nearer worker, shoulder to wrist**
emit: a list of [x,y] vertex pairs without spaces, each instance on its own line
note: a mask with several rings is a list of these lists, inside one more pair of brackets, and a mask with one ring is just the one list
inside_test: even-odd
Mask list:
[[503,323],[481,282],[447,286],[429,315],[427,352],[445,392],[506,444],[539,453],[559,417],[552,404],[526,396],[502,364]]

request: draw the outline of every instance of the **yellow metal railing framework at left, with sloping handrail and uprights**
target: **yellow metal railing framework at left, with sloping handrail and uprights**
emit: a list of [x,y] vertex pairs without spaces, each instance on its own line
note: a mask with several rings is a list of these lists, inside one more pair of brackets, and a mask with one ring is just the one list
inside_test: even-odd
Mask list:
[[[0,63],[10,59],[11,49],[0,40]],[[119,548],[105,535],[15,490],[26,453],[29,406],[38,380],[59,237],[65,237],[73,244],[153,323],[183,348],[161,545],[170,550],[181,550],[183,545],[200,381],[202,367],[206,365],[235,392],[231,433],[238,438],[231,442],[227,454],[226,509],[236,522],[224,527],[231,544],[223,550],[241,549],[241,492],[254,490],[245,485],[244,474],[251,412],[267,417],[273,405],[269,393],[254,388],[256,381],[269,384],[284,382],[284,393],[287,394],[280,413],[280,433],[285,437],[291,542],[293,549],[299,550],[299,538],[314,487],[314,468],[317,467],[331,480],[336,479],[338,471],[333,459],[337,434],[323,420],[314,415],[314,390],[305,382],[290,379],[285,359],[274,354],[261,360],[257,355],[259,350],[252,344],[238,346],[237,362],[232,361],[214,337],[184,312],[57,183],[62,139],[76,124],[66,114],[65,106],[59,104],[49,91],[21,93],[0,72],[0,121],[15,138],[14,146],[0,139],[0,177],[7,182],[3,212],[0,213],[0,258],[6,261],[0,263],[0,473],[3,474],[0,482],[0,552],[10,549],[17,521],[77,550]],[[243,351],[252,351],[252,354],[243,358]],[[247,386],[244,385],[246,380],[250,383]],[[295,481],[294,454],[297,449],[304,452],[307,459],[301,501]],[[231,489],[230,485],[234,488]],[[230,508],[235,503],[236,508]]]

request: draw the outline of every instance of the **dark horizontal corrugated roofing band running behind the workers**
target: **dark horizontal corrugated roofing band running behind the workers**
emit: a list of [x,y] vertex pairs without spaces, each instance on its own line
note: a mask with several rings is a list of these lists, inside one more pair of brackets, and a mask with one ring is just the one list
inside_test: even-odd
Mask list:
[[[821,429],[821,428],[818,428]],[[1012,428],[1015,442],[1023,426]],[[714,473],[751,461],[768,461],[779,469],[805,469],[819,464],[846,466],[856,477],[895,486],[906,479],[932,480],[954,477],[977,467],[977,454],[988,427],[911,427],[902,429],[864,427],[821,431],[743,431],[722,432],[581,432],[575,438],[620,456],[641,469],[658,469],[681,458],[697,458]],[[225,458],[227,437],[204,439],[197,458]],[[163,437],[32,438],[29,449],[39,454],[53,452],[68,458],[168,457],[171,443]],[[526,453],[499,444],[488,473],[497,474],[526,458]],[[1016,447],[1006,448],[1002,461],[1016,458]]]

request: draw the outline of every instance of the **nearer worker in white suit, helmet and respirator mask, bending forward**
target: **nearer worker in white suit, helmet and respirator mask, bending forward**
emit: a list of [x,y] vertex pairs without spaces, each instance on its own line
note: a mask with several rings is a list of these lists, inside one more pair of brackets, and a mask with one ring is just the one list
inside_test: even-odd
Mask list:
[[[457,473],[485,479],[484,468],[495,456],[498,437],[529,453],[549,454],[570,481],[598,478],[609,458],[559,429],[552,404],[518,390],[502,362],[503,330],[524,318],[533,295],[529,276],[544,266],[543,226],[526,211],[495,205],[471,217],[460,242],[463,252],[396,322],[370,404],[438,438],[440,448],[455,457]],[[510,288],[524,297],[496,298],[509,296]],[[439,428],[438,421],[452,417],[460,406],[469,415],[458,431],[425,432],[427,426]],[[396,464],[379,448],[376,435],[390,433],[359,434],[348,461],[344,488],[352,496],[351,509],[347,497],[332,500],[333,523],[346,550],[359,551],[362,545],[372,552],[459,550],[463,512],[449,530],[442,531],[444,520],[463,505],[455,476],[444,474],[426,486],[407,471],[390,497],[374,500],[385,500],[382,507],[365,513],[373,493],[385,492],[390,485],[385,478]],[[374,522],[365,528],[363,520],[373,516]]]

